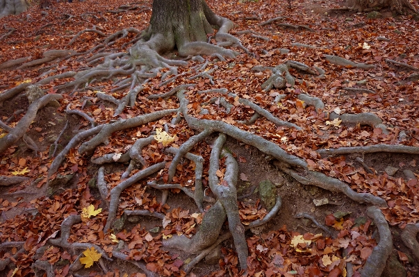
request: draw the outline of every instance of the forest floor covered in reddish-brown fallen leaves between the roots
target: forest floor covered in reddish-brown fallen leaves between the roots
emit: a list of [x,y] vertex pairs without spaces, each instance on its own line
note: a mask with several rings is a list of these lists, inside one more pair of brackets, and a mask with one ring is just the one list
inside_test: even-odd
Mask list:
[[[104,3],[87,0],[52,3],[45,10],[33,6],[21,15],[4,17],[0,19],[0,26],[4,26],[0,30],[0,70],[1,65],[8,60],[24,57],[37,60],[49,50],[66,49],[69,53],[89,51],[101,44],[104,37],[98,33],[83,33],[69,45],[77,33],[87,28],[96,28],[106,35],[130,27],[143,30],[151,16],[151,2],[109,0]],[[242,52],[236,59],[222,61],[217,57],[204,57],[215,68],[214,84],[208,78],[198,79],[195,82],[197,87],[192,90],[196,92],[227,87],[243,98],[253,99],[276,117],[302,126],[304,132],[288,132],[288,129],[279,128],[265,120],[241,128],[277,143],[288,153],[305,159],[311,169],[345,181],[356,192],[368,192],[384,199],[388,208],[381,210],[391,226],[395,250],[391,254],[393,264],[386,267],[383,276],[419,276],[418,258],[400,238],[406,224],[419,221],[419,154],[345,153],[340,156],[321,154],[320,157],[318,152],[319,149],[374,144],[419,146],[418,19],[412,16],[392,17],[388,10],[380,15],[331,10],[343,4],[334,1],[291,1],[291,8],[286,1],[207,2],[218,15],[234,22],[231,34],[255,54],[249,56],[241,49],[235,49]],[[121,8],[122,5],[126,7]],[[279,16],[283,18],[267,22]],[[372,16],[378,17],[368,18]],[[15,31],[2,37],[8,33],[6,26],[15,28]],[[115,40],[115,44],[108,46],[108,50],[127,51],[130,45],[126,43],[133,37],[135,33],[129,33]],[[33,67],[14,67],[0,71],[0,96],[2,91],[22,83],[37,83],[54,74],[79,71],[88,66],[88,58],[92,55],[75,55]],[[334,65],[327,62],[325,55],[340,56],[375,67],[362,69]],[[176,53],[166,53],[165,57],[177,59]],[[286,60],[321,67],[325,74],[318,78],[292,69],[290,72],[302,79],[302,82],[284,90],[272,88],[268,92],[263,91],[261,84],[269,77],[268,71],[255,73],[251,69],[257,65],[275,67]],[[167,85],[160,85],[161,76],[151,78],[146,85],[147,89],[138,94],[140,101],[136,106],[126,108],[120,118],[176,108],[176,101],[172,99],[149,100],[146,97],[169,92],[176,85],[190,82],[188,77],[195,75],[192,68],[197,65],[199,62],[188,60],[188,66],[179,67],[179,73],[183,76]],[[43,84],[42,89],[53,94],[58,85],[71,80],[53,80]],[[54,160],[54,147],[57,147],[56,156],[74,135],[90,125],[89,121],[79,115],[67,114],[66,106],[73,110],[84,109],[97,124],[112,121],[115,119],[115,105],[96,95],[106,92],[121,99],[126,92],[113,90],[116,87],[113,81],[95,83],[85,91],[63,94],[60,106],[49,105],[39,110],[26,132],[38,147],[37,152],[19,140],[1,154],[0,175],[28,177],[22,183],[1,187],[0,190],[0,242],[24,242],[25,250],[15,255],[22,244],[13,247],[0,244],[0,258],[9,259],[0,269],[1,276],[34,276],[35,271],[38,276],[42,276],[47,272],[42,266],[31,267],[35,262],[33,249],[39,249],[48,239],[56,237],[65,217],[79,215],[90,204],[95,209],[102,208],[102,212],[72,226],[70,243],[95,244],[104,249],[104,253],[111,255],[119,245],[118,242],[124,241],[129,245],[126,253],[134,260],[145,261],[149,271],[156,271],[159,276],[183,275],[181,266],[190,261],[189,256],[164,249],[161,240],[176,234],[194,234],[202,214],[193,199],[180,190],[172,190],[165,205],[162,205],[162,192],[145,186],[145,181],[129,187],[121,194],[118,217],[122,217],[124,209],[140,208],[161,212],[166,221],[163,220],[162,224],[162,220],[155,217],[131,216],[126,217],[120,230],[114,226],[115,233],[104,233],[108,214],[95,186],[100,166],[92,164],[89,156],[80,155],[76,149],[69,151],[58,173],[51,177],[63,179],[47,185],[49,167]],[[312,106],[297,99],[297,95],[302,92],[320,98],[324,103],[324,111],[335,111],[338,114],[373,112],[382,119],[386,131],[368,124],[344,125],[325,117],[324,120],[319,119]],[[286,96],[272,104],[279,94]],[[197,96],[195,103],[199,101],[208,102],[209,99]],[[188,108],[199,109],[195,103],[190,103]],[[14,127],[28,106],[24,94],[8,99],[0,107],[0,120]],[[252,115],[240,112],[227,115],[220,100],[206,108],[210,110],[209,117],[229,124],[248,119]],[[118,131],[109,138],[108,144],[102,144],[96,149],[94,157],[105,153],[124,153],[137,138],[148,137],[156,128],[164,128],[170,119],[165,117],[142,127]],[[176,135],[174,144],[179,141],[178,145],[181,145],[190,135],[194,135],[191,129],[182,125],[171,128],[170,133]],[[6,131],[0,128],[0,137],[4,135]],[[212,140],[213,137],[209,137],[200,142],[194,148],[194,153],[209,160]],[[282,197],[277,216],[268,224],[252,228],[246,233],[249,272],[252,276],[347,276],[345,265],[349,262],[353,264],[353,276],[360,276],[358,269],[363,267],[377,245],[377,235],[366,213],[366,203],[353,201],[338,192],[302,185],[272,163],[272,157],[254,146],[229,137],[226,147],[238,159],[239,208],[245,225],[263,218],[268,212],[258,190],[254,190],[262,181],[271,181],[277,187],[277,194]],[[142,155],[150,165],[161,162],[167,160],[163,148],[162,144],[150,144],[142,149]],[[359,162],[360,158],[363,163]],[[108,187],[120,183],[125,167],[123,163],[106,167]],[[195,178],[194,163],[183,161],[177,170],[174,181],[191,187]],[[153,178],[164,178],[165,174],[165,171],[159,172]],[[220,176],[222,174],[220,171]],[[203,177],[206,185],[208,165],[204,165]],[[209,190],[206,192],[211,196]],[[302,213],[304,218],[296,217]],[[313,217],[320,224],[315,224],[307,217]],[[227,231],[228,227],[224,226],[223,230]],[[114,234],[115,237],[110,236]],[[311,242],[306,243],[309,240]],[[216,257],[215,262],[214,259],[199,262],[190,276],[237,275],[238,260],[233,240],[226,240],[221,245],[221,255]],[[51,276],[144,276],[138,273],[138,267],[121,259],[101,259],[101,262],[95,262],[89,268],[80,265],[72,267],[80,253],[74,249],[50,246],[40,260],[54,265],[54,274]]]

